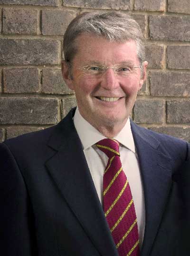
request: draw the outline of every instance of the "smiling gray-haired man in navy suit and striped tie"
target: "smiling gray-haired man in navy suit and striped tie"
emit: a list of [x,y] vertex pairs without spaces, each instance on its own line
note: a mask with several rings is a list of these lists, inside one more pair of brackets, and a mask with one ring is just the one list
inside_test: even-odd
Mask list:
[[129,119],[148,64],[138,24],[83,13],[64,54],[78,107],[0,145],[2,255],[189,255],[190,145]]

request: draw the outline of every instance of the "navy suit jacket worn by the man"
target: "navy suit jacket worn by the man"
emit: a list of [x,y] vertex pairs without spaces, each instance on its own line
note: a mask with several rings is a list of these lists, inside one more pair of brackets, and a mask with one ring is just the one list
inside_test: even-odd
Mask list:
[[[0,144],[1,255],[117,256],[74,112]],[[145,200],[141,256],[189,256],[190,145],[131,127]]]

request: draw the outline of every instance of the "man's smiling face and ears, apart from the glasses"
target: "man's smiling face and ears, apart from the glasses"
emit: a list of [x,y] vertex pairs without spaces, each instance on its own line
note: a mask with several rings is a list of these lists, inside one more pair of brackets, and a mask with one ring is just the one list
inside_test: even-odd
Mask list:
[[119,76],[108,68],[102,76],[89,77],[81,68],[94,63],[106,67],[123,62],[140,66],[136,43],[132,40],[109,42],[101,37],[83,34],[77,39],[77,47],[78,51],[72,61],[72,77],[69,76],[66,64],[63,64],[62,70],[68,87],[76,93],[80,114],[98,130],[113,126],[123,128],[137,92],[146,79],[147,62],[143,64],[143,76],[140,68],[134,69],[127,76]]

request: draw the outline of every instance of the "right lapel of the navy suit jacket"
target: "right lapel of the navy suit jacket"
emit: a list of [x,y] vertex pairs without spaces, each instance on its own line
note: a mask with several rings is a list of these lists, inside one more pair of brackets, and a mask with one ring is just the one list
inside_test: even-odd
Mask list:
[[159,142],[132,123],[145,200],[145,231],[141,256],[149,255],[171,187],[171,159],[159,151]]

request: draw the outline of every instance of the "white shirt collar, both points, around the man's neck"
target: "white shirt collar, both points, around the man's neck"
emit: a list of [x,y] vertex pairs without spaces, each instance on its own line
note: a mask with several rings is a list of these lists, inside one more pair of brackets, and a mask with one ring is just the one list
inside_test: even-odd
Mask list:
[[[78,107],[76,108],[74,116],[74,124],[84,150],[93,146],[101,139],[106,138],[81,116]],[[123,129],[114,138],[118,140],[124,147],[135,153],[133,134],[131,131],[129,118],[127,119]]]

